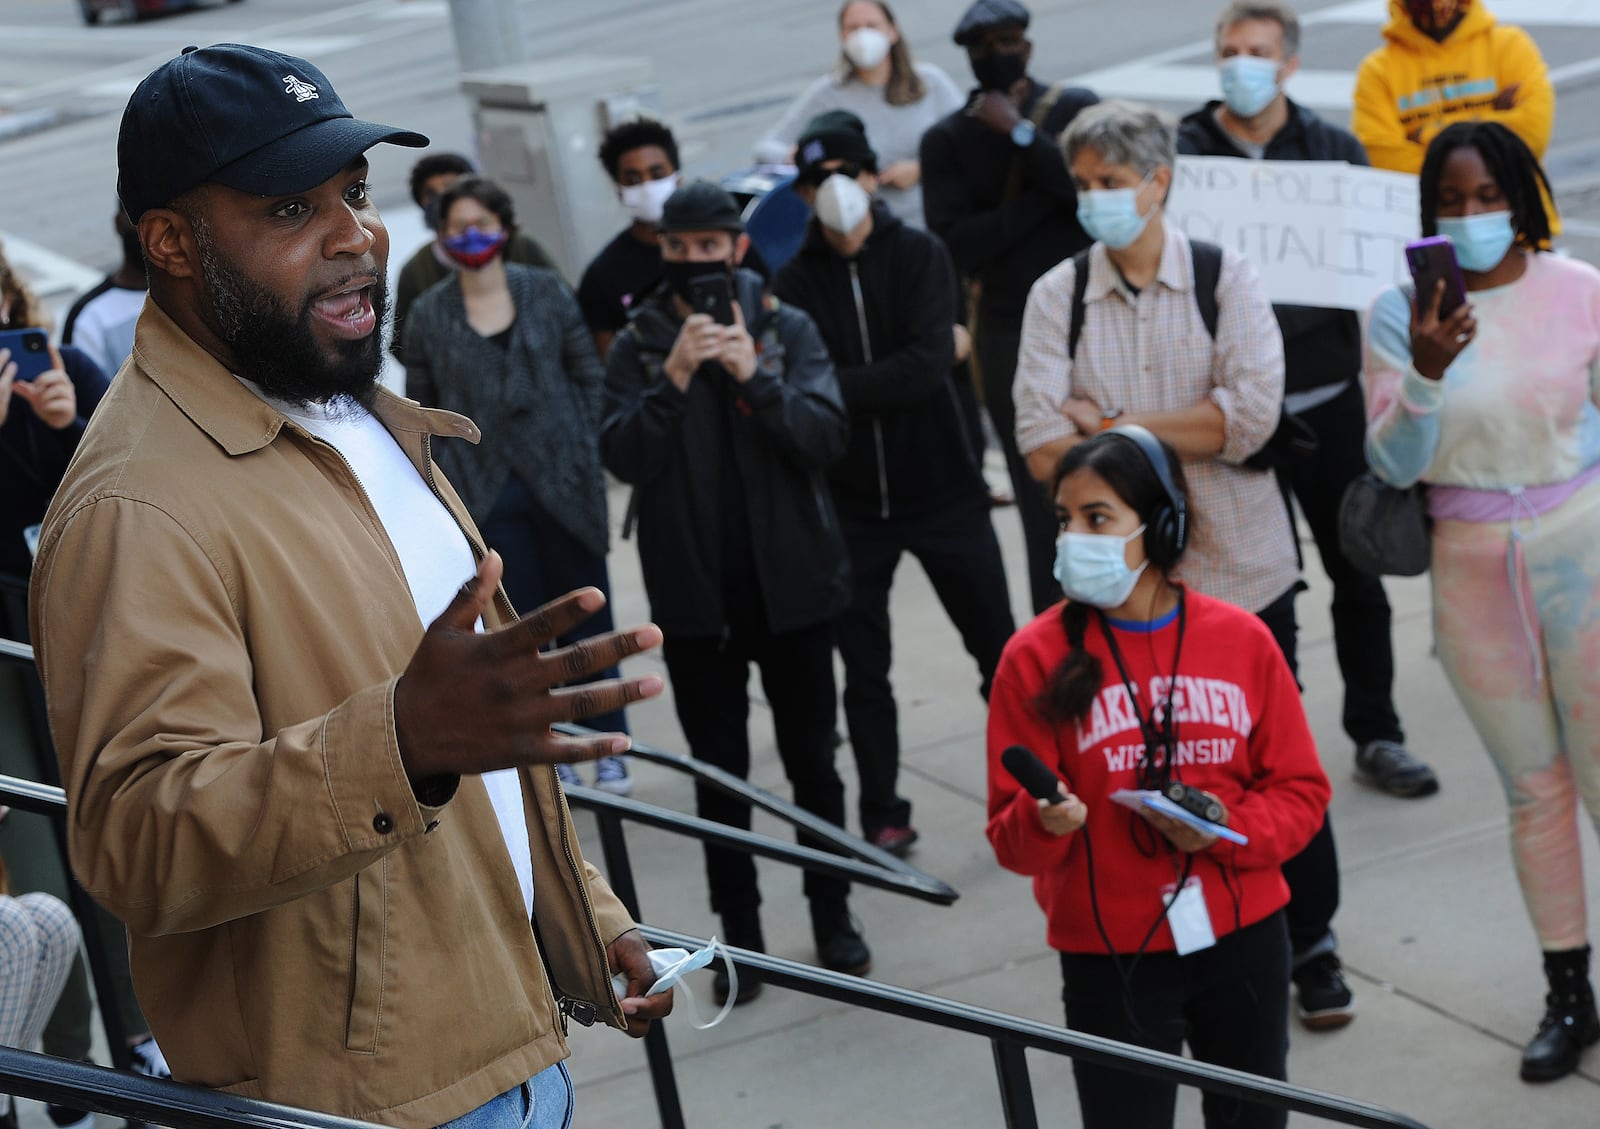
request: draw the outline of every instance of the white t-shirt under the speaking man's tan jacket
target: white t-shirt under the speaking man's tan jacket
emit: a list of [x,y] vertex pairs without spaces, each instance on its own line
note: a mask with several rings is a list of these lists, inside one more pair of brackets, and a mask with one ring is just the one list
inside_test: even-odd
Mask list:
[[[461,585],[478,571],[478,564],[461,526],[422,481],[422,475],[395,443],[389,429],[370,411],[350,401],[341,401],[331,409],[325,405],[286,405],[264,395],[250,381],[243,377],[238,381],[344,456],[400,555],[418,617],[422,624],[438,619]],[[478,630],[483,630],[482,620]],[[522,779],[515,769],[485,772],[482,779],[490,790],[501,836],[506,840],[506,851],[522,886],[522,900],[531,918],[533,854],[528,848],[528,824],[522,806]]]

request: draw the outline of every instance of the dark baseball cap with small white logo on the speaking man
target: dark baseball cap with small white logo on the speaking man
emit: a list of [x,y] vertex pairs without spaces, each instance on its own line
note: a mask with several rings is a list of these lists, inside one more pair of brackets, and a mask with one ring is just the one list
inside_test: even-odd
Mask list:
[[421,133],[352,117],[306,59],[242,43],[186,46],[128,99],[117,197],[139,222],[208,181],[258,197],[302,192],[381,141],[427,146]]

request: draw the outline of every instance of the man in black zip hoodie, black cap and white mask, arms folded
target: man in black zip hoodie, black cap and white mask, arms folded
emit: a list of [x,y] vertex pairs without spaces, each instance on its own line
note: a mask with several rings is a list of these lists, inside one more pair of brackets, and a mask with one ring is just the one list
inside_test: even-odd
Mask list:
[[838,619],[845,723],[861,774],[861,833],[904,856],[917,840],[896,793],[899,718],[890,684],[890,584],[901,553],[926,571],[979,692],[1011,636],[989,489],[955,395],[955,270],[939,240],[872,200],[877,154],[861,118],[830,110],[795,147],[797,190],[816,209],[774,291],[810,313],[838,368],[850,448],[827,473],[854,592]]

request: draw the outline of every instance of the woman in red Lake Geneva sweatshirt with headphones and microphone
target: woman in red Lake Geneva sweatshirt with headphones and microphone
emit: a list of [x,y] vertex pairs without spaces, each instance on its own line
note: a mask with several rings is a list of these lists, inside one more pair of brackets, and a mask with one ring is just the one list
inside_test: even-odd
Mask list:
[[[1054,494],[1067,601],[1000,659],[989,841],[1034,880],[1070,1028],[1173,1054],[1187,1041],[1197,1059],[1283,1078],[1278,865],[1331,795],[1294,678],[1259,619],[1170,579],[1189,533],[1171,448],[1141,427],[1102,432],[1067,451]],[[1058,798],[1035,800],[1002,766],[1013,745],[1054,771]],[[1216,822],[1248,841],[1114,798],[1171,782],[1216,800]],[[1174,1086],[1083,1062],[1074,1076],[1086,1129],[1173,1124]],[[1211,1094],[1203,1108],[1206,1126],[1288,1118]]]

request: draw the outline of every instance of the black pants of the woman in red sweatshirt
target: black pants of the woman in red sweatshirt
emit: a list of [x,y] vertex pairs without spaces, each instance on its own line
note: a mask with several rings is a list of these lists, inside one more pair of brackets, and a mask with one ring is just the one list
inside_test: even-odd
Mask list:
[[[1158,905],[1154,894],[1152,905]],[[1189,956],[1062,953],[1067,1027],[1264,1078],[1288,1076],[1290,947],[1283,916],[1221,937]],[[1178,1087],[1075,1059],[1083,1129],[1171,1129]],[[1202,1099],[1208,1129],[1282,1129],[1288,1111],[1235,1097]]]

